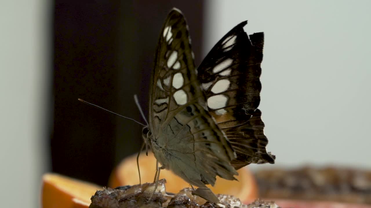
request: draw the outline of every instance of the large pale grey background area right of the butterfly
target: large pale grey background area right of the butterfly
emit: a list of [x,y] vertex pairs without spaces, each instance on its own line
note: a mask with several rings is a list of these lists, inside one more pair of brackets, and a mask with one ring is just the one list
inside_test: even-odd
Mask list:
[[260,109],[276,164],[371,168],[371,1],[207,2],[204,55],[243,20],[265,32]]

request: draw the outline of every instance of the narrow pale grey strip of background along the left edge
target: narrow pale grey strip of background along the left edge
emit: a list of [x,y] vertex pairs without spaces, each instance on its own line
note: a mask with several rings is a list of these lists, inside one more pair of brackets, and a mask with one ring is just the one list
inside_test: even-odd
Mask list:
[[[1,207],[39,207],[41,174],[49,166],[45,127],[51,90],[51,4],[0,3]],[[35,191],[37,190],[37,191]]]

